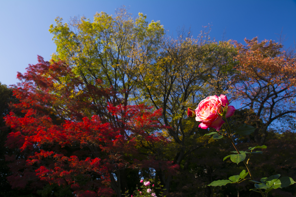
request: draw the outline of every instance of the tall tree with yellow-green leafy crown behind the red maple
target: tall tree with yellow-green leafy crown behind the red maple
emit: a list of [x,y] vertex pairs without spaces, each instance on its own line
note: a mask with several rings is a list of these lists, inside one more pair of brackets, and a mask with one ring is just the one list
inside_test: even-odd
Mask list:
[[84,85],[95,85],[96,80],[102,80],[101,86],[112,87],[112,91],[123,95],[123,99],[113,95],[111,101],[120,100],[127,105],[134,88],[131,73],[127,72],[135,61],[131,57],[133,46],[139,45],[145,58],[150,58],[159,48],[164,31],[159,21],[148,24],[145,19],[146,16],[139,13],[134,20],[124,7],[113,17],[104,12],[96,13],[94,22],[81,17],[72,19],[68,25],[57,17],[57,25],[49,29],[57,45],[53,59],[67,62]]

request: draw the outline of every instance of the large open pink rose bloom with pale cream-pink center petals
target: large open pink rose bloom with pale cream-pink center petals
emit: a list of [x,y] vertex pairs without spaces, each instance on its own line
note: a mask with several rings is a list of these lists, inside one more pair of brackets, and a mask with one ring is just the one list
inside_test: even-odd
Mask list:
[[[201,122],[198,127],[202,129],[213,127],[218,131],[224,123],[222,116],[219,116],[218,112],[220,112],[221,106],[224,107],[226,104],[229,105],[229,102],[227,97],[223,94],[220,96],[209,96],[200,101],[195,109],[195,120]],[[234,106],[228,106],[225,117],[232,116],[235,110]]]

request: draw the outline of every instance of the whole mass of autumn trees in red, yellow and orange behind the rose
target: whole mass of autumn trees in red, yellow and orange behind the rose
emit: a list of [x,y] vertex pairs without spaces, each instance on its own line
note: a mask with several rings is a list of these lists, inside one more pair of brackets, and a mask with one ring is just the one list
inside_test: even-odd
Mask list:
[[[0,99],[0,163],[10,168],[0,168],[0,196],[10,184],[6,196],[121,197],[138,191],[141,179],[163,185],[167,197],[256,196],[248,182],[208,186],[239,174],[241,163],[223,162],[229,143],[205,135],[208,128],[185,112],[221,94],[237,109],[231,128],[256,128],[236,135],[238,148],[267,146],[250,160],[255,179],[279,173],[296,180],[296,61],[280,43],[216,42],[207,29],[197,38],[180,30],[175,39],[160,21],[124,7],[96,13],[93,22],[55,21],[52,60],[38,56],[17,74],[21,83],[5,94],[0,88],[10,98]],[[276,192],[292,196],[296,184]]]

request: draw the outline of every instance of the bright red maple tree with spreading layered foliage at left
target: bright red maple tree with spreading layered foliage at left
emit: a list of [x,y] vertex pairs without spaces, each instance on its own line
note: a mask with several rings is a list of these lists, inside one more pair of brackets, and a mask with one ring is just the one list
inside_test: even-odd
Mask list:
[[5,118],[13,130],[6,142],[15,149],[7,156],[13,188],[36,191],[49,183],[77,196],[121,196],[126,169],[176,167],[154,151],[168,142],[160,135],[161,110],[116,103],[112,97],[120,94],[101,80],[85,84],[62,61],[38,62],[18,73],[20,103]]

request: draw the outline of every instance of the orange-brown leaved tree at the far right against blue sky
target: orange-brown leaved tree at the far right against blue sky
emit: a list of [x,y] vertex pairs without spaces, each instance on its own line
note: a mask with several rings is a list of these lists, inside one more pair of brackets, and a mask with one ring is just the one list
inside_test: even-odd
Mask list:
[[[234,97],[243,107],[255,112],[258,128],[255,141],[263,144],[268,128],[276,120],[294,119],[296,113],[295,58],[280,51],[282,45],[274,41],[258,43],[257,37],[245,39],[247,46],[235,42],[239,61],[234,77]],[[275,124],[276,126],[276,124]]]

